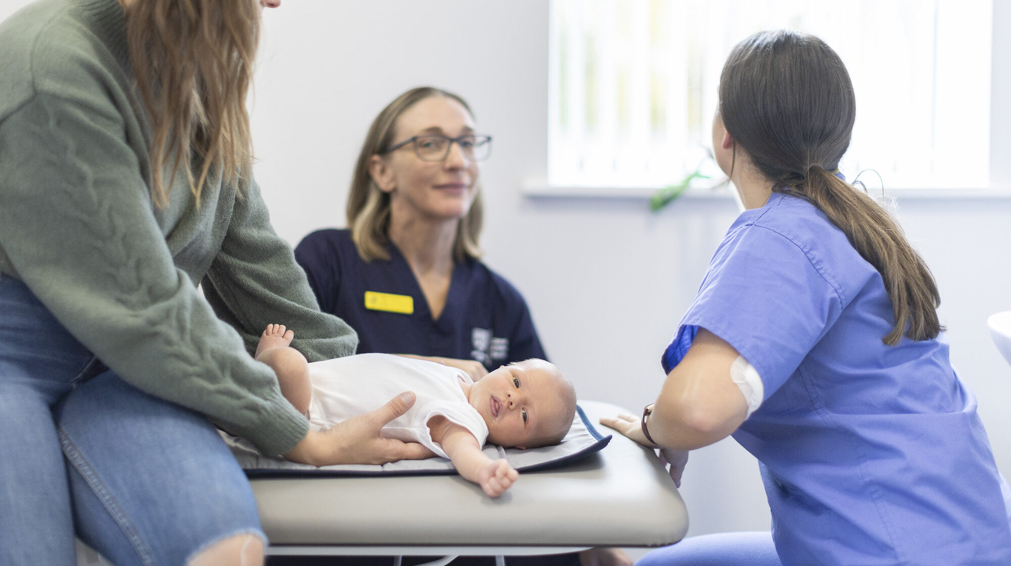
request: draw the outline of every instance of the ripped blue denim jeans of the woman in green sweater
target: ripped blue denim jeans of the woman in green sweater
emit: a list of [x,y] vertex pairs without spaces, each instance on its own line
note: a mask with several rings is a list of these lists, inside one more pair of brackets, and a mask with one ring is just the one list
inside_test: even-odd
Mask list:
[[119,566],[266,542],[206,417],[121,380],[0,275],[0,566],[73,565],[75,533]]

